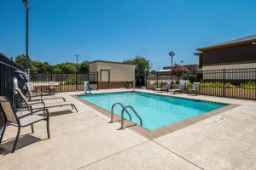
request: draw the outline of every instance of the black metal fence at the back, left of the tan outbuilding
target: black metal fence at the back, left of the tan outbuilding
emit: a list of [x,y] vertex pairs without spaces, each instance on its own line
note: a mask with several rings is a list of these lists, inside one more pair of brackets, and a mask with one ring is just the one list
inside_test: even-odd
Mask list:
[[48,72],[38,73],[30,72],[29,80],[41,92],[47,92],[50,86],[57,87],[57,92],[70,92],[76,90],[84,90],[84,81],[95,84],[95,88],[98,87],[98,73],[60,73],[60,72]]

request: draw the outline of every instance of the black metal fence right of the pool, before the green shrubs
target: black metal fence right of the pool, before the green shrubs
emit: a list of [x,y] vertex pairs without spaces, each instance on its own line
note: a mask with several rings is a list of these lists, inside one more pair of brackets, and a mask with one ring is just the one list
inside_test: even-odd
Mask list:
[[[256,68],[223,69],[196,72],[158,73],[148,77],[148,88],[155,88],[157,82],[186,81],[191,87],[193,82],[201,82],[199,94],[236,99],[256,99]],[[177,87],[177,86],[174,86]]]

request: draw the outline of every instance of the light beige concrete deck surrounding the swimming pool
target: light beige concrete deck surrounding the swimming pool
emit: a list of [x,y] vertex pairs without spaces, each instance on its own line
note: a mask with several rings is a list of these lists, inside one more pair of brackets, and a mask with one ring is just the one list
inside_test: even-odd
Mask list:
[[[127,90],[97,93],[117,91]],[[58,94],[77,105],[79,113],[49,110],[51,139],[46,139],[45,122],[35,124],[33,134],[22,128],[18,150],[10,154],[16,128],[7,127],[0,169],[256,169],[256,101],[175,94],[238,106],[218,114],[221,122],[208,117],[147,139],[129,128],[117,130],[119,122],[109,124],[108,116],[71,97],[81,93]]]

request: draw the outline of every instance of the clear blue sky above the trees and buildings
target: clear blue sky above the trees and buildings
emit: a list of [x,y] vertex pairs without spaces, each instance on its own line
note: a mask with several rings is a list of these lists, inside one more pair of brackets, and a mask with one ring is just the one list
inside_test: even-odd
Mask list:
[[[25,8],[0,0],[0,51],[25,54]],[[157,69],[197,63],[195,48],[256,33],[255,0],[29,0],[30,56],[51,64],[123,61],[142,55]]]

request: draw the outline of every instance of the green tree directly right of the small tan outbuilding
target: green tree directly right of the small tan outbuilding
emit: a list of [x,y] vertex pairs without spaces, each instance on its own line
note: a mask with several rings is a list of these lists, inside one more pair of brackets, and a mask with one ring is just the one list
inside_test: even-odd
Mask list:
[[136,66],[135,74],[146,75],[149,73],[149,60],[145,59],[143,56],[137,55],[134,59],[125,59],[125,64],[133,64]]

